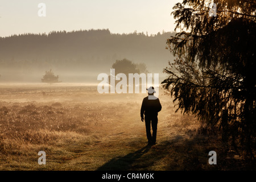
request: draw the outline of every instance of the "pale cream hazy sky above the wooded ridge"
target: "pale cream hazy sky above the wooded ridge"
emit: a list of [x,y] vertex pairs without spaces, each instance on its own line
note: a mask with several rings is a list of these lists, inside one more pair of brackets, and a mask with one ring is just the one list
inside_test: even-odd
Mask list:
[[[109,28],[112,33],[173,31],[179,0],[0,0],[0,36]],[[46,16],[38,16],[45,3]]]

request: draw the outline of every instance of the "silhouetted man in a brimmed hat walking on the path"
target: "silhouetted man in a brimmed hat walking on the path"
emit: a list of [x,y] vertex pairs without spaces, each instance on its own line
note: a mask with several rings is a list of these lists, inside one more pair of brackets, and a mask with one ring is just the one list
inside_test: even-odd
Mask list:
[[[155,144],[156,142],[156,131],[158,129],[158,112],[162,109],[159,98],[154,96],[155,89],[150,87],[147,89],[148,96],[145,97],[142,101],[141,106],[141,121],[145,120],[146,133],[148,144]],[[145,119],[144,119],[145,115]],[[151,135],[151,125],[153,133]]]

